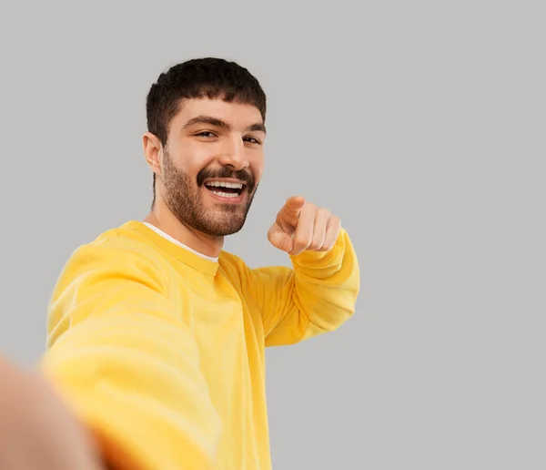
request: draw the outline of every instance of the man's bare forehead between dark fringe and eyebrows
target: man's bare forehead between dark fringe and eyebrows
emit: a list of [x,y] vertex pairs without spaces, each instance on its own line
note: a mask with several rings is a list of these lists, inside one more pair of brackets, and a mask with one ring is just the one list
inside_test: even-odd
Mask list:
[[173,124],[184,125],[189,119],[197,116],[217,117],[233,128],[247,128],[251,124],[263,123],[258,107],[227,102],[221,98],[191,98],[182,102]]

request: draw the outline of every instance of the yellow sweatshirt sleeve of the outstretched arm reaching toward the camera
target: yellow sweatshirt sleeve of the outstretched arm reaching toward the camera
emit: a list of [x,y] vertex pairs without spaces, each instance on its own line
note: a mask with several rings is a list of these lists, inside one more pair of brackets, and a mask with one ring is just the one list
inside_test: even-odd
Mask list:
[[53,294],[40,369],[108,468],[212,468],[220,424],[166,276],[138,252],[86,245]]

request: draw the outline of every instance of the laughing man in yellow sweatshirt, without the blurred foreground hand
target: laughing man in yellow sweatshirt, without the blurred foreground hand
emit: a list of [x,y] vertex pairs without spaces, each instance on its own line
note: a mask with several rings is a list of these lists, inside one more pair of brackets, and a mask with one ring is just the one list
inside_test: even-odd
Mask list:
[[41,370],[105,468],[270,469],[265,347],[354,312],[349,236],[302,197],[268,231],[291,269],[250,269],[222,250],[258,189],[265,117],[258,80],[233,62],[162,74],[143,138],[150,213],[78,248],[61,273]]

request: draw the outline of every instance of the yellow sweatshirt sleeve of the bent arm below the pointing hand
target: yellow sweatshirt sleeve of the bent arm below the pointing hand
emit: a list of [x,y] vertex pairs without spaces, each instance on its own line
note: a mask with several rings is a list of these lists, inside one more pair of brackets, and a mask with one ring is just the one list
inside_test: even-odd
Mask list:
[[292,269],[250,270],[248,292],[261,312],[266,346],[301,342],[333,332],[355,312],[359,262],[346,230],[329,251],[303,251]]

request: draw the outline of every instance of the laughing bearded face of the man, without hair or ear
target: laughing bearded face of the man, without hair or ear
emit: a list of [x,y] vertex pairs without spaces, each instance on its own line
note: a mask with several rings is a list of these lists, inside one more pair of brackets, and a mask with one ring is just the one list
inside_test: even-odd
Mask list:
[[170,123],[162,178],[167,206],[207,235],[240,230],[264,168],[257,107],[189,99]]

